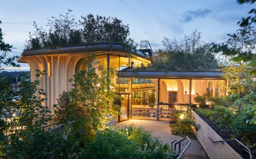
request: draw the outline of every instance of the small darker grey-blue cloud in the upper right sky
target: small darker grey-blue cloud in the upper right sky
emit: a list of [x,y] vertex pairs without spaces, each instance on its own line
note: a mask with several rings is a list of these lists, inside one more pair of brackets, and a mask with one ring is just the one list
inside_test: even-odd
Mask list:
[[192,21],[192,20],[197,19],[197,18],[204,18],[210,12],[211,12],[210,9],[205,9],[205,10],[197,9],[195,11],[186,11],[183,14],[183,18],[182,18],[181,21],[184,22],[184,23],[187,23],[187,22]]

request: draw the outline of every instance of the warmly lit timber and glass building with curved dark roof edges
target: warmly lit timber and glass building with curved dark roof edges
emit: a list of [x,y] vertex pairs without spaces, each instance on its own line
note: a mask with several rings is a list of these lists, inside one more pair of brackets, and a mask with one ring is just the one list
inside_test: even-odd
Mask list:
[[[129,119],[150,119],[171,121],[176,110],[185,110],[187,103],[194,101],[196,94],[203,95],[210,91],[213,96],[224,96],[218,84],[226,83],[214,72],[130,72],[129,69],[150,63],[148,54],[137,50],[135,56],[129,57],[121,44],[101,43],[88,46],[58,47],[55,49],[38,49],[24,51],[18,62],[28,63],[31,81],[36,79],[35,70],[46,70],[47,76],[40,77],[39,87],[45,90],[48,100],[43,103],[53,112],[53,104],[63,90],[69,91],[69,79],[77,71],[86,69],[92,53],[96,54],[93,62],[105,68],[117,71],[114,79],[116,93],[123,97],[121,111],[115,122]],[[156,96],[154,108],[149,108],[149,95]]]

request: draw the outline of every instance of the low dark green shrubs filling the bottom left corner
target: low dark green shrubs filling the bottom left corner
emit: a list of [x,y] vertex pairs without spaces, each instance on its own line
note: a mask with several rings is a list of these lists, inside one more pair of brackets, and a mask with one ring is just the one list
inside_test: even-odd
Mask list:
[[19,135],[12,134],[10,143],[2,148],[8,158],[76,158],[80,150],[77,139],[68,133],[28,127]]

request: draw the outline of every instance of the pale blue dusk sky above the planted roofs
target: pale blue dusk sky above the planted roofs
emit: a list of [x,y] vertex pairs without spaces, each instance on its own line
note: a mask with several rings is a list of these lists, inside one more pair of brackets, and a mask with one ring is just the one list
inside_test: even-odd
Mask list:
[[[130,37],[135,42],[140,45],[140,41],[148,40],[156,51],[163,48],[164,37],[181,41],[195,29],[202,33],[205,42],[224,42],[227,33],[239,29],[237,22],[241,17],[247,17],[256,8],[256,4],[238,5],[236,0],[0,0],[0,4],[4,41],[15,48],[8,53],[10,56],[23,52],[29,32],[34,31],[33,21],[48,30],[47,18],[65,15],[68,9],[77,22],[80,16],[90,13],[121,19],[123,24],[129,24]],[[29,68],[28,64],[21,66],[20,71],[29,70],[23,69]]]

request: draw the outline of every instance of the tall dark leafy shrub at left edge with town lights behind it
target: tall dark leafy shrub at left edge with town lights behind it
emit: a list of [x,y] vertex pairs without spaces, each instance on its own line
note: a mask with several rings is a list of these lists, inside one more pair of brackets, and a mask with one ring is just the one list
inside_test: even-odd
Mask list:
[[[36,77],[44,75],[43,72],[37,71]],[[11,150],[12,152],[16,150],[16,144],[17,146],[21,146],[17,151],[19,151],[18,156],[23,158],[19,153],[23,153],[22,147],[26,147],[26,145],[23,145],[23,142],[19,141],[20,136],[22,136],[21,131],[28,127],[41,127],[51,120],[51,115],[49,115],[51,112],[46,106],[42,105],[45,99],[40,97],[41,95],[43,96],[44,93],[43,90],[38,89],[38,85],[38,80],[33,82],[22,81],[19,91],[20,99],[17,102],[12,102],[12,88],[0,87],[1,92],[6,90],[6,92],[9,93],[0,94],[0,116],[3,118],[0,121],[0,151],[4,152],[5,155]],[[19,143],[17,143],[18,141]],[[12,142],[14,142],[14,144],[12,144]],[[24,151],[25,150],[26,148],[24,148]]]

